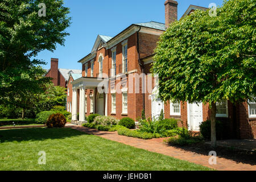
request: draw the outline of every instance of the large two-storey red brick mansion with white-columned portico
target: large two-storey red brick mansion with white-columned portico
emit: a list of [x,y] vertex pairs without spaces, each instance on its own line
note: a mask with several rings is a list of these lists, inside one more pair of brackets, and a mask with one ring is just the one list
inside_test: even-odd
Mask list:
[[[131,24],[114,38],[98,35],[91,53],[79,61],[82,77],[71,78],[68,83],[68,88],[72,88],[68,102],[73,122],[78,122],[77,113],[81,123],[85,122],[85,115],[92,113],[136,120],[143,109],[147,118],[159,117],[163,109],[165,118],[177,118],[180,126],[199,131],[200,123],[210,118],[208,104],[164,104],[156,98],[157,78],[150,74],[152,54],[159,36],[177,19],[177,2],[167,0],[164,5],[165,24]],[[191,5],[183,16],[196,9],[206,10]],[[255,102],[233,105],[229,101],[217,104],[217,117],[225,123],[228,138],[256,137],[255,105]]]

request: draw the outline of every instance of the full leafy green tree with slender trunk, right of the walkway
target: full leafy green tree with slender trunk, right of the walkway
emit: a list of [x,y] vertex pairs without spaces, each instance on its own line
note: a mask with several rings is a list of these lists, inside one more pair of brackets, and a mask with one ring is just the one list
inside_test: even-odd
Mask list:
[[216,102],[255,95],[255,0],[229,0],[217,16],[195,11],[170,25],[155,49],[163,101],[210,104],[212,146],[216,146]]

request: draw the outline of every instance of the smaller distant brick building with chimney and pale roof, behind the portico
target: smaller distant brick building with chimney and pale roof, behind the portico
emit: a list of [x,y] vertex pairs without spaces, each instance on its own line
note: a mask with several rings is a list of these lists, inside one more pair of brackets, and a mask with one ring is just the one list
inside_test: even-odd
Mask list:
[[59,59],[51,59],[51,69],[46,73],[46,77],[53,78],[52,82],[55,86],[62,86],[67,88],[69,75],[71,73],[81,74],[81,70],[77,69],[61,69],[59,68]]

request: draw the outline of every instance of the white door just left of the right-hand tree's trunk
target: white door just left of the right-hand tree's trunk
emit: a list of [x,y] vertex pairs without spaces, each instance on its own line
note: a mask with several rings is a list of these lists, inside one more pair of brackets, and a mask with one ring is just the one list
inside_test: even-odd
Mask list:
[[189,104],[189,124],[192,131],[199,131],[200,124],[203,122],[203,104],[202,102]]

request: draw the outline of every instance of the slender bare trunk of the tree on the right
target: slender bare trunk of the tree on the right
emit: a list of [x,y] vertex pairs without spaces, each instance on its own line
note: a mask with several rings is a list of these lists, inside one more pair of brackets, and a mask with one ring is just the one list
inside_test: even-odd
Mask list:
[[210,114],[210,132],[211,132],[211,146],[215,148],[217,146],[216,140],[216,102],[212,103],[211,114]]

